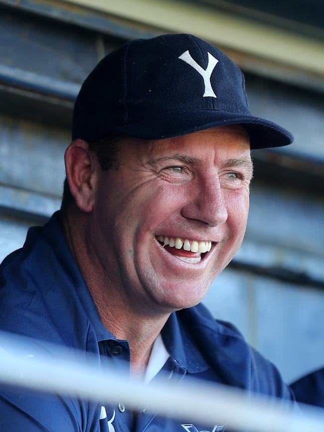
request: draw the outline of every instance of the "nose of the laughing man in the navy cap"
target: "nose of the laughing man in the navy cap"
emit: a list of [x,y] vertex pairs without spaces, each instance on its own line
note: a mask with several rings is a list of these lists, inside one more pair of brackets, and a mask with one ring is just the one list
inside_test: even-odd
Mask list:
[[182,208],[182,216],[215,227],[226,222],[228,213],[224,193],[218,177],[199,181],[190,192],[188,203]]

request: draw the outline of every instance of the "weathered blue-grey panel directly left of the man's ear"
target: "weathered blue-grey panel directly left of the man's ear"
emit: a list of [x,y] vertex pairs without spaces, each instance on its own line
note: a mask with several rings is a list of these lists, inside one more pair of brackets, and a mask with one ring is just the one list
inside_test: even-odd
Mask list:
[[0,183],[59,197],[70,133],[0,115]]

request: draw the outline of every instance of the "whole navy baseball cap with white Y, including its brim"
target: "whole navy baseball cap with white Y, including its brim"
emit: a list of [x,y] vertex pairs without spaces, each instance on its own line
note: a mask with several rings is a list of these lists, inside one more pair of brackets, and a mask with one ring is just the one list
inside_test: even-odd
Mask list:
[[190,34],[165,34],[130,41],[100,61],[76,99],[72,139],[158,140],[233,124],[245,127],[251,148],[294,140],[250,113],[244,76],[222,51]]

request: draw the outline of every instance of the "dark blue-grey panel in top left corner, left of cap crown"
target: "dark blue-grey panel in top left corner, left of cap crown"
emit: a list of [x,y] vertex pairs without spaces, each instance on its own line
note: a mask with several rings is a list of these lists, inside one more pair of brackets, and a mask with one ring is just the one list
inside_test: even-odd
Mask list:
[[0,32],[1,64],[24,72],[81,83],[99,59],[95,34],[36,16],[1,9]]

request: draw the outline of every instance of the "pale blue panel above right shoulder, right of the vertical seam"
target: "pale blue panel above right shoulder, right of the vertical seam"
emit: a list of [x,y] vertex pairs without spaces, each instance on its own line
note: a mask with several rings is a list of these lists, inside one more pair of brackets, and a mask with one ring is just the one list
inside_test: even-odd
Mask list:
[[324,292],[256,278],[258,349],[287,382],[324,364]]

